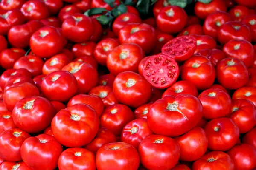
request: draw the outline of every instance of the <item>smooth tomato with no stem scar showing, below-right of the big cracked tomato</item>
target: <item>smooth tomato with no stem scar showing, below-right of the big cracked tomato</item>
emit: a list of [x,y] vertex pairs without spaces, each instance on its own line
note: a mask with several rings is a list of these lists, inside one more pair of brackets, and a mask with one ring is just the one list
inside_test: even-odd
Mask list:
[[195,161],[207,150],[208,139],[204,129],[194,127],[182,136],[174,138],[180,146],[181,161]]

